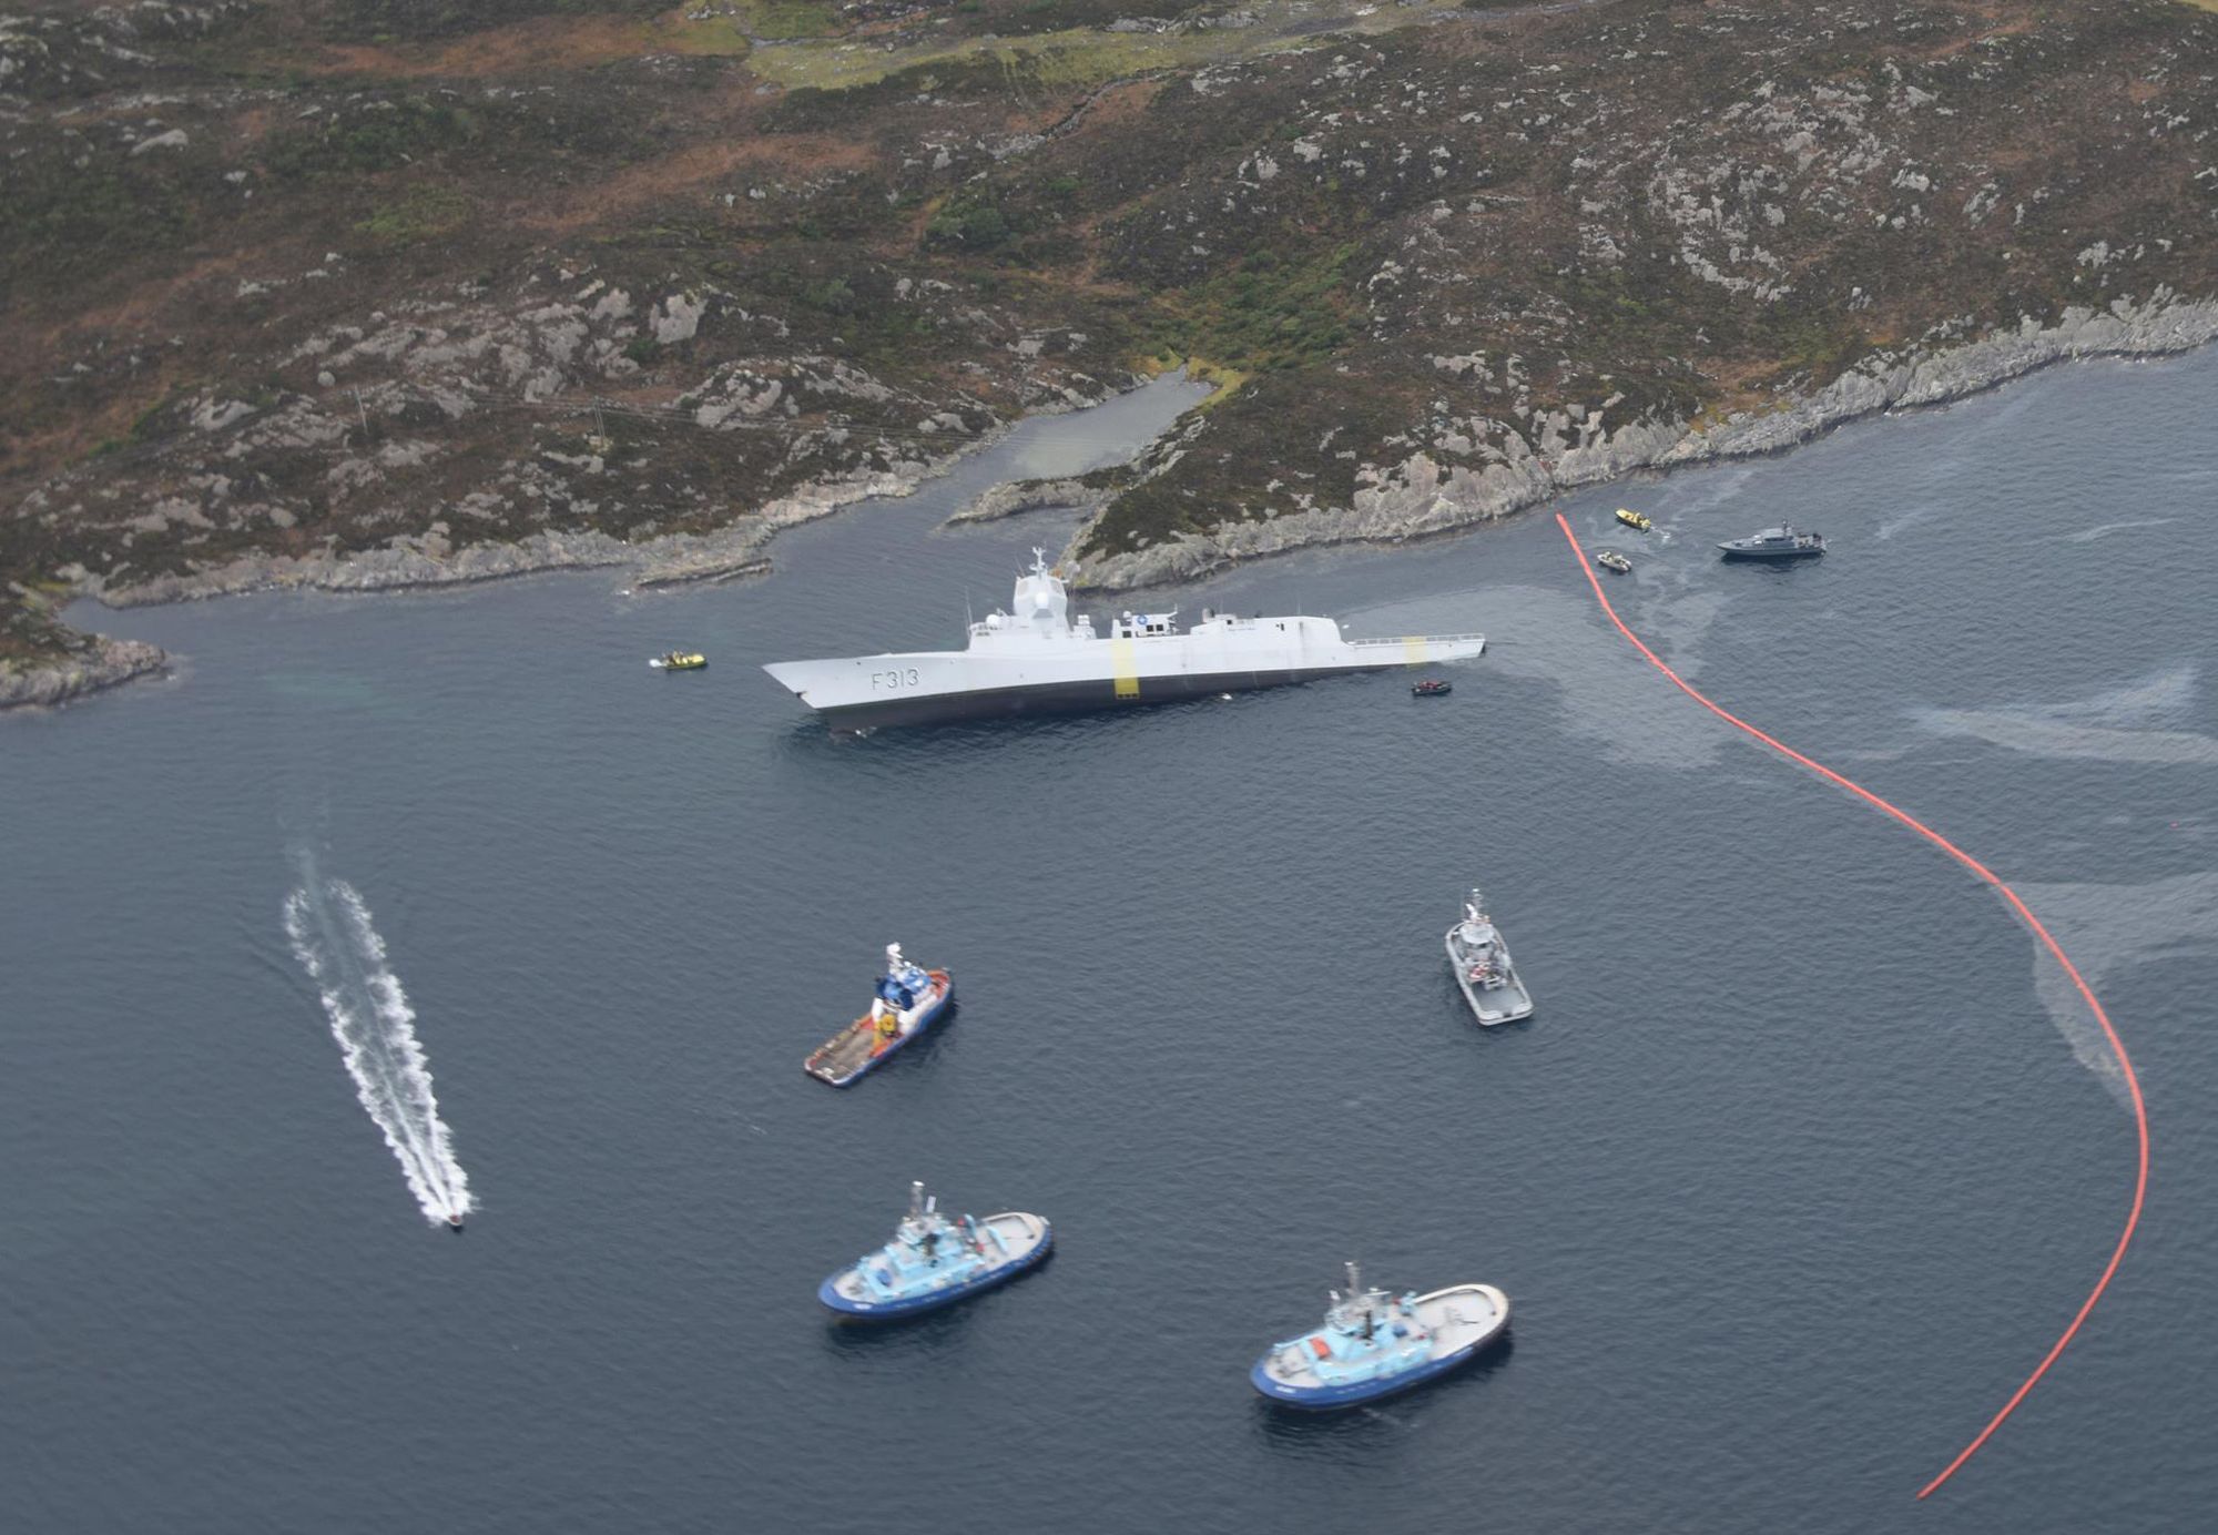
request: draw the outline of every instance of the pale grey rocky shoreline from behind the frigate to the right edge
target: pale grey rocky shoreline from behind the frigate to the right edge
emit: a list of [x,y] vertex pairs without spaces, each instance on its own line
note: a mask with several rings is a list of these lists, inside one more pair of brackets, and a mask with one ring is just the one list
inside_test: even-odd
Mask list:
[[[1373,484],[1357,490],[1353,506],[1346,508],[1220,523],[1209,535],[1178,535],[1169,543],[1080,559],[1078,550],[1091,532],[1089,521],[1071,537],[1062,561],[1078,568],[1076,586],[1082,590],[1138,590],[1193,581],[1242,559],[1324,543],[1400,543],[1495,521],[1566,490],[1644,468],[1781,453],[1881,410],[1965,399],[2056,362],[2163,357],[2211,339],[2218,339],[2218,302],[2180,299],[2158,288],[2145,304],[2118,299],[2103,311],[2067,308],[2047,326],[2025,317],[2012,331],[1994,331],[1963,346],[1874,353],[1825,388],[1777,410],[1734,413],[1712,426],[1641,419],[1601,430],[1593,417],[1577,424],[1566,415],[1550,415],[1535,433],[1537,446],[1504,464],[1479,470],[1442,468],[1428,455],[1415,453],[1393,466],[1364,466]],[[1038,488],[1045,495],[1047,486]],[[1007,510],[1069,504],[1071,499],[1027,499],[1009,504]]]

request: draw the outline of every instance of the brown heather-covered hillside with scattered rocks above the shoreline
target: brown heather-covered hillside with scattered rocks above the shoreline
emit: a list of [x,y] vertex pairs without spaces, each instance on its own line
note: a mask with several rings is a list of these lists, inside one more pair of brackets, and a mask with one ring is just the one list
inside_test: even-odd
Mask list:
[[1229,388],[1096,552],[2218,295],[2200,9],[1355,9],[0,0],[0,663],[62,590],[708,532],[1173,359]]

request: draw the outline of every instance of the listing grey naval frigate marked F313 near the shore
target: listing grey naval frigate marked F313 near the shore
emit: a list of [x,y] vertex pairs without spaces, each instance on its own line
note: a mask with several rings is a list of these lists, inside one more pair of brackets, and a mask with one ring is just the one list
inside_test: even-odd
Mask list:
[[1242,619],[1207,608],[1184,630],[1176,610],[1122,612],[1102,634],[1089,614],[1071,619],[1062,572],[1047,566],[1042,550],[1031,550],[1031,570],[1016,579],[1009,608],[971,623],[965,650],[779,661],[763,670],[834,730],[874,730],[1167,703],[1468,661],[1486,650],[1484,634],[1344,639],[1331,619]]

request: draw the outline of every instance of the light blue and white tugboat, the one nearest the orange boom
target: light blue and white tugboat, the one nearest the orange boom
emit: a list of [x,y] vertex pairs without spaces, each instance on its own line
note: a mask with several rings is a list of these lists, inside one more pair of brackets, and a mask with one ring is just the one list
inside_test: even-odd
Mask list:
[[1493,1284],[1451,1284],[1428,1295],[1364,1289],[1349,1264],[1349,1289],[1331,1291],[1324,1326],[1271,1344],[1249,1380],[1286,1406],[1353,1406],[1453,1371],[1510,1324],[1510,1298]]

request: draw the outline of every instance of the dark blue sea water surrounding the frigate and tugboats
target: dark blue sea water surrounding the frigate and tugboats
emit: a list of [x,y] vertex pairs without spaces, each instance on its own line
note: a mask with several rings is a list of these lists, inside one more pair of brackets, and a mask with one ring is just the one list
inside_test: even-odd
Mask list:
[[[1388,674],[834,741],[756,670],[952,643],[1069,528],[938,532],[952,501],[1156,399],[798,530],[761,583],[102,614],[189,665],[0,721],[9,1524],[2196,1528],[2214,401],[2218,355],[2074,366],[1568,506],[1699,685],[2018,883],[2143,1071],[2143,1238],[1936,1500],[2116,1238],[2105,1051],[1990,892],[1648,670],[1550,519],[1180,592],[1486,628],[1439,701]],[[1712,559],[1781,515],[1834,552]],[[645,670],[670,645],[712,668]],[[461,1238],[288,952],[302,852],[408,987]],[[1446,976],[1473,881],[1526,1027]],[[798,1063],[889,938],[960,1020],[825,1089]],[[816,1280],[912,1176],[1047,1213],[1056,1260],[827,1324]],[[1264,1409],[1247,1364],[1351,1256],[1502,1284],[1513,1344],[1375,1411]]]

